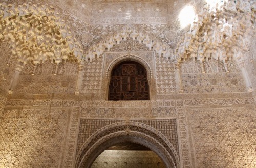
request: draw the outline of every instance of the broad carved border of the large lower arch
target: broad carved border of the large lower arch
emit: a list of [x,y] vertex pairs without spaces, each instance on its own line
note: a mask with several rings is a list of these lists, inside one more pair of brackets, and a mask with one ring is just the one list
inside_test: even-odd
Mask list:
[[124,141],[152,149],[166,167],[180,167],[178,154],[168,139],[155,128],[137,122],[119,122],[99,129],[83,144],[77,154],[75,167],[90,167],[106,148]]

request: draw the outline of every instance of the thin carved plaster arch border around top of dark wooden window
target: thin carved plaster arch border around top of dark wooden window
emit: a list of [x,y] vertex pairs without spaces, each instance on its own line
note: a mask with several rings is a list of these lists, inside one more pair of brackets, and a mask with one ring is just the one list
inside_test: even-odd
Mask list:
[[148,65],[148,63],[145,60],[143,60],[142,58],[138,57],[137,55],[124,54],[124,55],[121,55],[120,57],[118,57],[117,59],[115,59],[114,61],[112,61],[108,65],[108,68],[106,69],[106,78],[108,79],[108,82],[111,79],[111,72],[112,72],[113,68],[117,64],[119,64],[119,63],[121,63],[123,61],[135,61],[135,62],[140,63],[146,69],[148,81],[152,78],[152,76],[153,76],[152,70],[150,68],[150,65]]

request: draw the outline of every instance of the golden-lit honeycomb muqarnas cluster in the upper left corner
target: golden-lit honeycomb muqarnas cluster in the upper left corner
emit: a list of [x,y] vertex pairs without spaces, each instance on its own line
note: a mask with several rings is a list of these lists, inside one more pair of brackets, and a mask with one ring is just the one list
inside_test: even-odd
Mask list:
[[9,43],[11,57],[24,65],[50,59],[81,62],[83,50],[70,28],[48,4],[0,4],[0,38]]

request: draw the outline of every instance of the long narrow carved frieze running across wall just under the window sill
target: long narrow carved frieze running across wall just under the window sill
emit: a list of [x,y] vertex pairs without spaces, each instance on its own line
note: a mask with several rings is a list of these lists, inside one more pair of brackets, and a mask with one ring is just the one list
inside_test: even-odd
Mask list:
[[5,99],[7,107],[81,107],[81,108],[136,108],[136,107],[174,107],[174,106],[218,106],[218,105],[253,105],[256,104],[252,95],[250,98],[211,98],[185,100],[157,100],[157,101],[78,101],[78,100],[18,100]]

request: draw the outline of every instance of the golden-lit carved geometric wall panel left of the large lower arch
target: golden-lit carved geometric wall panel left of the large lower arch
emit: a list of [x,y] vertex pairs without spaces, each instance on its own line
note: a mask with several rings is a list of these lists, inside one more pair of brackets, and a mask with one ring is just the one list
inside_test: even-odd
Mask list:
[[66,111],[4,110],[0,123],[0,167],[58,167]]

